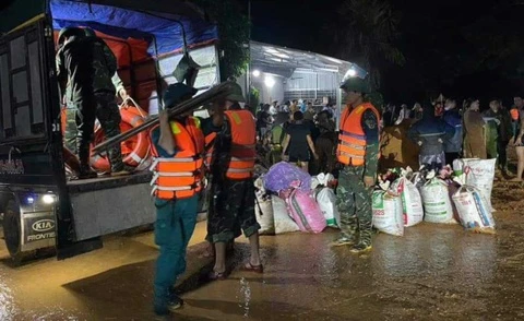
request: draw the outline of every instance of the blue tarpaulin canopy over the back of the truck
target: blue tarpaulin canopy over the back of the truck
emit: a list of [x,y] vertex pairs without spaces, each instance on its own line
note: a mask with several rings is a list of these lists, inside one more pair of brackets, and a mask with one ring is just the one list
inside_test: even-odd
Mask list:
[[[52,26],[88,26],[109,36],[145,39],[151,56],[172,52],[183,47],[182,26],[189,46],[218,38],[217,26],[177,13],[181,1],[70,1],[51,0]],[[97,2],[110,5],[98,4]],[[178,2],[178,3],[177,3]],[[186,5],[187,7],[187,5]],[[186,10],[186,12],[189,12]],[[189,13],[186,13],[189,14]]]

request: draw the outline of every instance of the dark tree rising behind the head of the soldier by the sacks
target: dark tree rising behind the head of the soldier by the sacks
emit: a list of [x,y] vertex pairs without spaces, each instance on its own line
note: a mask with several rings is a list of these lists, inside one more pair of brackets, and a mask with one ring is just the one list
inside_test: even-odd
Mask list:
[[335,31],[337,56],[355,61],[369,73],[373,90],[380,87],[381,66],[384,61],[403,64],[405,59],[394,41],[398,39],[401,21],[384,0],[346,0],[331,31]]

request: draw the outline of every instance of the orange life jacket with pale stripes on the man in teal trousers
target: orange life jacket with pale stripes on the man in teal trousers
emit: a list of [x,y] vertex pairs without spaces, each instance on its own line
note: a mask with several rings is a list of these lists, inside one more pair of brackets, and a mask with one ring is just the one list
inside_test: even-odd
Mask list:
[[[204,134],[195,117],[188,117],[186,123],[170,121],[170,126],[177,153],[174,157],[162,157],[152,144],[151,193],[163,200],[191,198],[202,190]],[[155,130],[158,127],[152,132]]]

